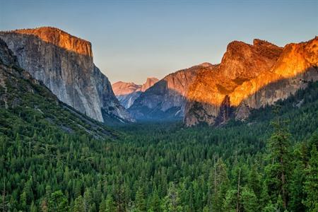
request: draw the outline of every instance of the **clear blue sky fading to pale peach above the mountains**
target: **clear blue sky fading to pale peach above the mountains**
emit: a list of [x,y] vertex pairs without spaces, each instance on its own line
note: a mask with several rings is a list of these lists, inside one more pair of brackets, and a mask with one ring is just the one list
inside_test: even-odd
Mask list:
[[112,83],[218,64],[232,40],[284,46],[318,35],[318,1],[0,0],[0,30],[53,26],[92,43]]

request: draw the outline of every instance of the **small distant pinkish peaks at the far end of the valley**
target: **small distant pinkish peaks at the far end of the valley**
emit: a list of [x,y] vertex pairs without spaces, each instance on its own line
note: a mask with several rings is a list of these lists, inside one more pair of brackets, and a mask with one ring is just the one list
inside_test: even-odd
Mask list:
[[125,83],[119,81],[112,84],[112,89],[119,102],[125,107],[129,108],[134,103],[136,98],[139,98],[141,93],[145,92],[148,88],[153,86],[159,80],[158,78],[147,78],[146,83],[143,85],[136,85],[135,83]]

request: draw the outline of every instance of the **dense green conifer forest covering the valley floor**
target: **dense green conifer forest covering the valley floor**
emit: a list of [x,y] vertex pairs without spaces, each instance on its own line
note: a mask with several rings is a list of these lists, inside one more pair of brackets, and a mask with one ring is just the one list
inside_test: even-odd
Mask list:
[[218,127],[92,136],[32,107],[0,114],[1,211],[318,211],[318,83]]

